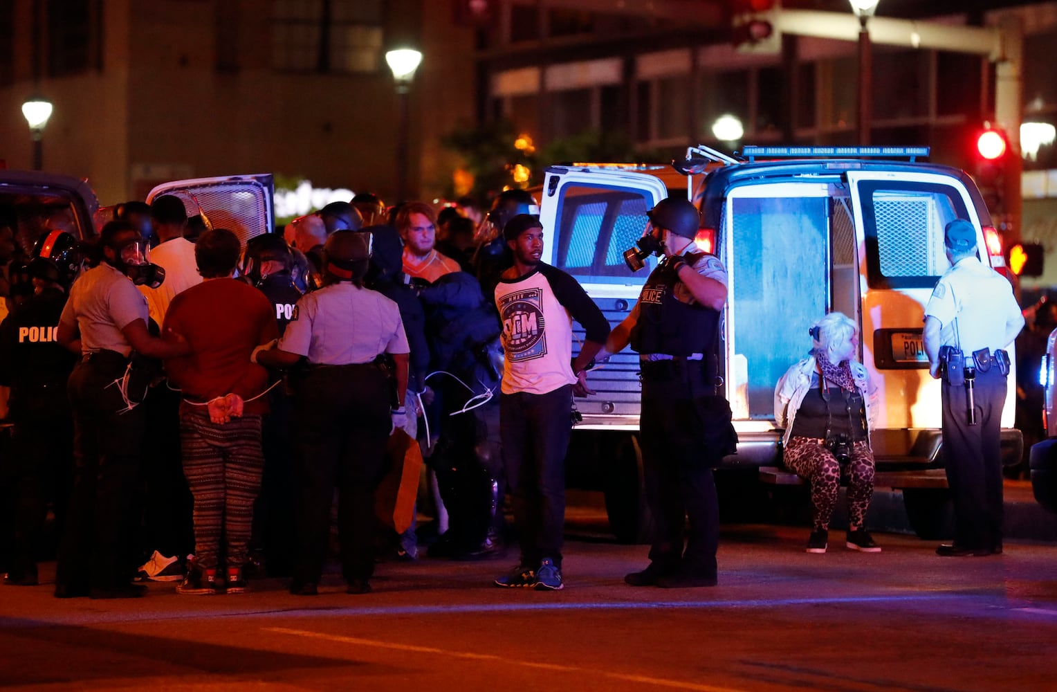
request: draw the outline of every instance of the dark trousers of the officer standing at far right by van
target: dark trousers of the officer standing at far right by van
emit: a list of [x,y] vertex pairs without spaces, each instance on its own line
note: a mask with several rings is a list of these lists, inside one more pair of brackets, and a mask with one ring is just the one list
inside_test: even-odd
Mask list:
[[994,548],[1002,543],[1002,407],[1006,378],[977,370],[977,424],[968,424],[966,390],[943,383],[943,458],[954,500],[954,544]]

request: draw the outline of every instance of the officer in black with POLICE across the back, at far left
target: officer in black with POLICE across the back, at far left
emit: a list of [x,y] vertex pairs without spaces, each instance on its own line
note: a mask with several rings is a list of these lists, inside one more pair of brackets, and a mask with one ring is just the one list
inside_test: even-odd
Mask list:
[[15,556],[4,584],[35,586],[41,529],[53,502],[57,531],[73,471],[66,381],[76,358],[56,340],[67,289],[80,270],[69,233],[43,236],[29,263],[33,293],[0,324],[0,418],[14,423],[4,484],[15,491]]

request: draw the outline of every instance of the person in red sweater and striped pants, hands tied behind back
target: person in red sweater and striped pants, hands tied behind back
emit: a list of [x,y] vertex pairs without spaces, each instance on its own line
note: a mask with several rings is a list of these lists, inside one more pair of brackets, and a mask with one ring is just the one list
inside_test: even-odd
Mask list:
[[194,497],[194,563],[179,594],[218,590],[222,532],[224,586],[228,594],[245,590],[242,565],[264,469],[261,416],[267,398],[261,395],[268,387],[267,371],[249,357],[278,329],[264,294],[231,278],[239,253],[230,231],[203,233],[194,258],[204,280],[172,299],[163,327],[191,348],[189,356],[165,363],[169,382],[183,393],[180,439]]

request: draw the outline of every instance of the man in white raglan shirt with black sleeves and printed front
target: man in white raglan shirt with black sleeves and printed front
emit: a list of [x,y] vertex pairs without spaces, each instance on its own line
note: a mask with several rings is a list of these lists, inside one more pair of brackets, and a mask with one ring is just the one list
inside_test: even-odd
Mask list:
[[[506,356],[499,425],[521,562],[496,585],[557,590],[562,587],[572,397],[594,394],[587,388],[587,370],[609,336],[609,323],[575,278],[540,261],[543,226],[538,216],[515,216],[503,237],[514,252],[514,266],[496,287]],[[587,332],[575,360],[573,320]]]

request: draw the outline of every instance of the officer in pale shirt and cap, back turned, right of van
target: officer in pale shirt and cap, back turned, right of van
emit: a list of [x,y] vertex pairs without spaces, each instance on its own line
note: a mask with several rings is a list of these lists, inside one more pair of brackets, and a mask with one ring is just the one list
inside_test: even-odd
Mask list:
[[944,230],[951,267],[925,306],[929,374],[943,378],[943,458],[954,499],[954,541],[942,557],[1002,552],[1000,429],[1009,357],[1024,326],[1013,287],[977,255],[977,230]]

